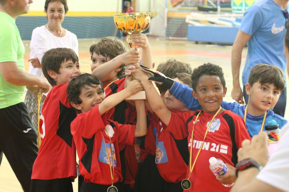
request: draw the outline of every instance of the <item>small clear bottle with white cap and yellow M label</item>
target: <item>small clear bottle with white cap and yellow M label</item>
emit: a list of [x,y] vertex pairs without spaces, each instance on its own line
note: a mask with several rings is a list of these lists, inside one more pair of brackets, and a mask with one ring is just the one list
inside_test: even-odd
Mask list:
[[[216,159],[215,157],[211,157],[209,159],[209,162],[210,162],[210,170],[214,173],[215,176],[225,175],[227,173],[228,168],[226,164],[224,164],[222,159]],[[234,183],[224,186],[231,187],[232,185],[234,185]]]

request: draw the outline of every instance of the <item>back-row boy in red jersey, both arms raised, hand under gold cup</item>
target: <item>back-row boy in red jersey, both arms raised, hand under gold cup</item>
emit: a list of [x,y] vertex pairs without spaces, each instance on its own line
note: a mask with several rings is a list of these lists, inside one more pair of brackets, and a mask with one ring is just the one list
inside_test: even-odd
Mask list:
[[[152,67],[151,49],[147,37],[144,34],[132,35],[132,40],[142,48],[142,63],[145,66]],[[91,71],[92,74],[103,83],[106,97],[124,89],[125,65],[139,62],[140,55],[138,51],[131,50],[126,52],[126,50],[127,48],[123,42],[116,37],[104,37],[97,44],[91,45],[90,47],[92,60]],[[126,60],[125,62],[118,62],[118,58],[125,58],[128,55],[134,56],[134,62]],[[121,124],[135,125],[135,107],[123,100],[107,112],[107,118]],[[122,189],[123,191],[131,191],[130,188],[134,185],[140,162],[139,146],[139,144],[134,146],[120,146],[122,174],[125,178],[121,189],[126,188]]]

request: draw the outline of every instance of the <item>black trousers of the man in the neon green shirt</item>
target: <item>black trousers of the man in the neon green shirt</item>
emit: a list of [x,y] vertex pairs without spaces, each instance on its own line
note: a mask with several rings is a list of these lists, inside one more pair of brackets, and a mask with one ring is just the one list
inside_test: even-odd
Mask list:
[[37,138],[23,102],[0,109],[0,157],[5,154],[25,192],[29,191],[38,153]]

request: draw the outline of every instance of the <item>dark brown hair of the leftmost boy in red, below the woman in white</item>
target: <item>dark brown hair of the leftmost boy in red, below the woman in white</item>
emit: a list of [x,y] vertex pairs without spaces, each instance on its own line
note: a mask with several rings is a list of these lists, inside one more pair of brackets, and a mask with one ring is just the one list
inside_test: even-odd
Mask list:
[[63,62],[71,60],[73,63],[78,62],[78,57],[72,49],[55,48],[48,50],[42,57],[41,68],[43,75],[46,77],[50,85],[56,85],[56,82],[48,74],[48,70],[53,70],[59,74],[59,69]]

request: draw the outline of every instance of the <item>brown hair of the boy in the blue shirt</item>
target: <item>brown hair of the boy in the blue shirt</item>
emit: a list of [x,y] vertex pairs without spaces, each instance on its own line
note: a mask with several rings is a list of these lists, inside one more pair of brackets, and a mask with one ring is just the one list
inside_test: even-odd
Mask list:
[[257,64],[250,71],[248,83],[252,86],[255,82],[273,83],[277,89],[283,91],[285,88],[285,77],[283,71],[276,65]]

